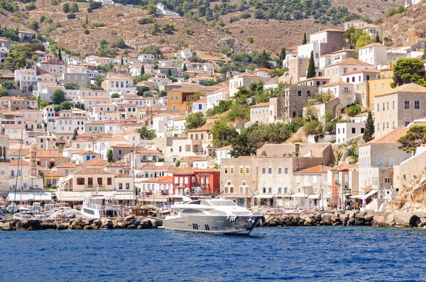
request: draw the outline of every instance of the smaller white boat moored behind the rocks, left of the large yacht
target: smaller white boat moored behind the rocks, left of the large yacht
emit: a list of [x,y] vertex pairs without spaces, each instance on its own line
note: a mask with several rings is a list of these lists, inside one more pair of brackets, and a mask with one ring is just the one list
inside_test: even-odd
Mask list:
[[114,198],[91,195],[84,198],[80,214],[85,218],[124,218],[126,207],[119,205]]

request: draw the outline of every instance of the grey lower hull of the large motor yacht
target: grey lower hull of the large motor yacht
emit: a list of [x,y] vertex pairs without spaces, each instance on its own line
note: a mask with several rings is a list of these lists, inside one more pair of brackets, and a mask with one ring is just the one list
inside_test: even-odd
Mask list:
[[226,215],[170,216],[163,221],[163,228],[187,232],[250,235],[261,218],[262,215],[239,215],[237,218]]

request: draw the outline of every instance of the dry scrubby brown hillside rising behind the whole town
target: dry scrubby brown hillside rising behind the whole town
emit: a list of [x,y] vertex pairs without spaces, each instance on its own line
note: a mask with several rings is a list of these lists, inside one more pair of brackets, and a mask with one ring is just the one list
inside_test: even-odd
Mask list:
[[[299,0],[248,1],[244,9],[239,6],[242,2],[237,0],[226,1],[224,9],[222,9],[223,1],[210,2],[209,9],[214,11],[214,13],[212,12],[214,16],[217,13],[218,21],[216,19],[207,21],[208,10],[204,13],[204,16],[200,15],[200,11],[198,11],[200,9],[195,8],[196,5],[194,3],[196,1],[194,1],[192,3],[193,6],[187,9],[185,16],[190,13],[192,15],[190,18],[195,18],[195,20],[180,16],[159,17],[156,21],[160,28],[165,23],[173,23],[175,24],[175,30],[168,34],[159,32],[155,35],[151,35],[153,23],[138,24],[138,20],[147,17],[146,9],[126,6],[104,6],[102,9],[87,13],[89,4],[87,2],[77,2],[80,9],[79,12],[75,13],[77,18],[68,19],[67,14],[62,11],[62,4],[65,1],[53,6],[51,1],[36,0],[36,9],[33,11],[25,11],[24,6],[26,4],[13,2],[18,3],[21,16],[16,16],[16,13],[13,14],[0,9],[0,22],[2,25],[13,28],[18,26],[20,29],[28,30],[28,21],[38,21],[39,33],[53,38],[60,46],[81,54],[97,50],[97,45],[102,39],[107,40],[109,43],[116,43],[120,38],[125,40],[126,45],[138,48],[159,45],[158,41],[161,38],[165,40],[165,43],[161,44],[160,47],[169,52],[175,49],[178,39],[184,39],[195,50],[207,52],[217,50],[222,45],[231,45],[236,51],[261,51],[266,49],[276,54],[282,47],[301,44],[303,33],[313,33],[334,26],[333,23],[337,24],[339,21],[351,18],[368,17],[374,19],[378,16],[383,17],[385,11],[399,6],[404,0],[381,0],[375,4],[368,4],[371,1],[366,0],[321,0],[320,4],[322,6],[319,11],[324,11],[324,13],[316,12],[313,7],[309,11],[297,13],[290,5],[280,5],[307,3],[307,1]],[[148,3],[148,1],[144,2]],[[185,3],[187,2],[176,0],[174,3],[180,4],[180,2],[183,4],[176,6],[176,9],[172,7],[172,9],[183,14],[182,9],[185,9]],[[69,3],[73,4],[75,2]],[[220,6],[220,8],[217,9],[216,6]],[[347,9],[339,8],[339,6],[345,6]],[[261,13],[261,15],[259,16],[258,13]],[[317,13],[317,16],[310,16],[312,13]],[[242,14],[246,15],[241,16]],[[250,17],[245,18],[247,15]],[[50,16],[52,23],[46,23],[46,21],[40,23],[40,16]],[[84,28],[86,16],[89,24]],[[266,18],[269,19],[266,20]],[[286,20],[282,18],[286,18]],[[103,27],[92,28],[91,26],[94,23],[99,23]],[[192,30],[192,35],[188,34],[190,33],[187,32],[188,29]],[[84,30],[88,30],[89,34],[85,34]],[[253,43],[249,42],[248,36],[253,37]],[[209,52],[209,56],[218,60],[224,59],[223,55],[216,55],[212,52]]]

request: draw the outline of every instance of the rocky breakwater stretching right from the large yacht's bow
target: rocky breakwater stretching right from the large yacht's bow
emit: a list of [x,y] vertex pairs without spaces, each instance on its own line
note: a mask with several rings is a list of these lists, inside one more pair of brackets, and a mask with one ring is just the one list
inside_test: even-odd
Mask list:
[[262,226],[382,226],[425,227],[425,213],[376,213],[376,212],[315,212],[300,214],[266,215]]

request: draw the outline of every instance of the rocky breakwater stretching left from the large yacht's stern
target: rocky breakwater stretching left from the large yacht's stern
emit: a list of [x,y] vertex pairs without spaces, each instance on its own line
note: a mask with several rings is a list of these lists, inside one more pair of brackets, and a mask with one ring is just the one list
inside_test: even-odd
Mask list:
[[0,222],[0,230],[97,230],[97,229],[152,229],[163,225],[158,218],[133,217],[118,219],[73,218],[67,220],[16,220]]

